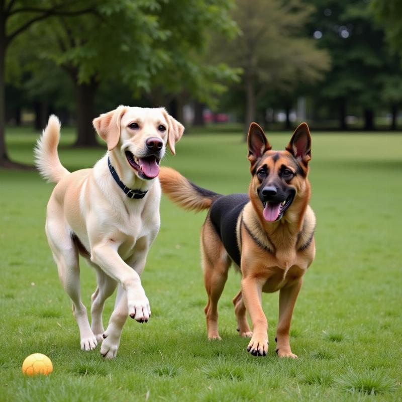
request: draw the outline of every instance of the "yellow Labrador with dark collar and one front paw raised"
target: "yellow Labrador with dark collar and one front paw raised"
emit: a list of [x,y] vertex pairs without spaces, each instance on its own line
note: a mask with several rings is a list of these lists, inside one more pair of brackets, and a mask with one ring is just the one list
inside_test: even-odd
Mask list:
[[[108,152],[92,169],[70,173],[62,166],[56,116],[49,118],[35,157],[42,176],[57,183],[47,206],[46,235],[72,299],[81,349],[102,342],[100,353],[113,358],[127,315],[141,323],[151,315],[140,275],[160,226],[159,162],[167,145],[175,154],[184,127],[163,108],[126,106],[100,115],[93,126]],[[78,254],[96,271],[91,326],[80,297]],[[104,303],[117,285],[115,310],[105,331]]]

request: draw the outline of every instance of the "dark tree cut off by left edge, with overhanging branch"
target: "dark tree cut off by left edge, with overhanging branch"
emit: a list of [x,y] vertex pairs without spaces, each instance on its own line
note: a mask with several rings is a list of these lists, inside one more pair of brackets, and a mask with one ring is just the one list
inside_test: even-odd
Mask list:
[[78,16],[93,12],[93,4],[46,2],[40,0],[0,0],[0,166],[22,167],[10,161],[5,142],[5,61],[11,43],[32,25],[54,16]]

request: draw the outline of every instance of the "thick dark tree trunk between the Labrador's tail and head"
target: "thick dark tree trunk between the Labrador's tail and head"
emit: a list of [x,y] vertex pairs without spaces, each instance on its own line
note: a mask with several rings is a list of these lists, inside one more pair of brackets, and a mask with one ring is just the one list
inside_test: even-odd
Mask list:
[[[76,82],[76,81],[75,81]],[[97,145],[92,120],[95,118],[94,105],[97,84],[94,80],[90,83],[76,84],[77,99],[77,140],[75,146],[94,147]]]

